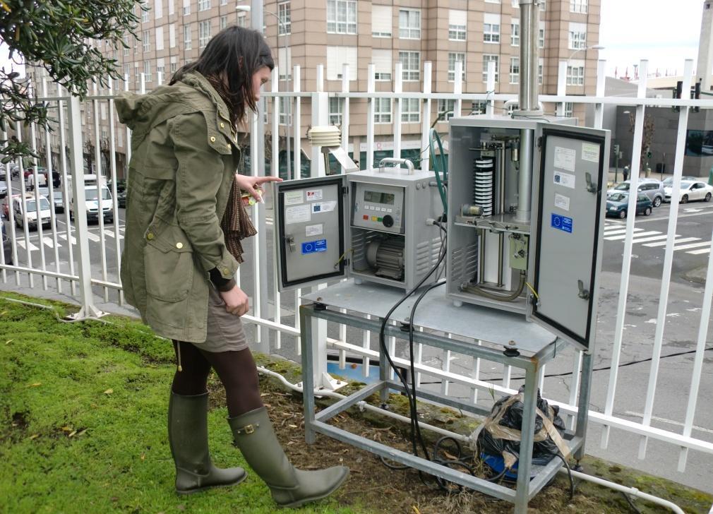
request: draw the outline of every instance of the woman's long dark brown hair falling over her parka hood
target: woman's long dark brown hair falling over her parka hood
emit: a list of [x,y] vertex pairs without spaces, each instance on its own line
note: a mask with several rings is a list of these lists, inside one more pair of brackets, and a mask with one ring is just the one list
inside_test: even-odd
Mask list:
[[235,125],[245,117],[246,108],[253,112],[257,110],[252,96],[252,76],[263,66],[270,70],[275,68],[270,46],[262,34],[230,26],[208,41],[198,61],[176,71],[170,84],[180,81],[189,71],[198,71],[225,101],[230,120]]

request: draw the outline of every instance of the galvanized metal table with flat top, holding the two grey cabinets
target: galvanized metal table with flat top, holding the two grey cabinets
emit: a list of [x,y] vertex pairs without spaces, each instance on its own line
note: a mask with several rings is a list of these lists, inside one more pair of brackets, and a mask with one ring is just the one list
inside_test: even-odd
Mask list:
[[[404,386],[400,381],[389,379],[389,364],[383,352],[380,352],[379,381],[376,384],[365,386],[360,391],[337,401],[336,404],[325,408],[319,413],[314,412],[314,375],[316,371],[319,372],[319,368],[316,367],[319,364],[316,363],[324,362],[324,359],[326,359],[326,355],[321,354],[322,351],[326,351],[326,347],[320,348],[317,346],[319,344],[318,341],[314,340],[314,334],[317,333],[318,320],[323,319],[378,332],[381,328],[382,317],[391,309],[391,306],[399,301],[403,294],[404,292],[399,289],[381,284],[367,282],[354,284],[354,282],[347,281],[303,295],[302,298],[309,302],[299,308],[302,335],[304,428],[307,443],[314,443],[316,433],[319,432],[357,448],[389,458],[392,461],[406,464],[411,468],[419,469],[502,500],[511,501],[515,504],[515,513],[526,513],[528,501],[555,476],[562,466],[560,459],[554,458],[548,465],[539,468],[536,476],[530,480],[530,475],[533,471],[535,407],[540,374],[543,366],[552,360],[566,343],[545,329],[526,322],[522,315],[509,314],[475,305],[454,307],[452,302],[444,296],[443,290],[434,289],[426,294],[426,297],[419,304],[414,320],[410,320],[409,315],[411,307],[419,296],[418,292],[409,300],[406,300],[404,304],[401,304],[390,318],[396,322],[413,322],[415,327],[423,327],[424,331],[414,330],[414,341],[417,343],[451,350],[473,358],[498,362],[525,371],[522,441],[520,441],[517,488],[514,490],[357,436],[327,423],[330,418],[337,416],[337,414],[358,404],[360,401],[364,401],[371,394],[379,393],[381,398],[386,400],[389,389],[404,391]],[[339,309],[347,309],[347,312],[340,312]],[[365,316],[366,314],[369,314],[371,319],[368,319]],[[386,336],[405,339],[404,332],[393,324],[386,325],[385,333]],[[442,335],[439,333],[442,333]],[[446,336],[446,333],[459,337],[452,339]],[[464,341],[463,339],[466,340]],[[472,342],[468,342],[468,339],[471,339]],[[476,344],[478,340],[482,341],[483,345]],[[504,349],[509,351],[505,352]],[[319,354],[317,354],[318,352]],[[588,354],[584,356],[582,369],[583,377],[578,405],[587,406],[590,389],[589,377],[591,375],[591,359]],[[419,389],[417,396],[419,399],[446,404],[478,415],[485,416],[490,412],[490,408],[459,401],[432,391]],[[576,431],[568,431],[564,436],[565,443],[568,444],[570,451],[578,459],[583,456],[584,451],[587,411],[587,408],[579,409]]]

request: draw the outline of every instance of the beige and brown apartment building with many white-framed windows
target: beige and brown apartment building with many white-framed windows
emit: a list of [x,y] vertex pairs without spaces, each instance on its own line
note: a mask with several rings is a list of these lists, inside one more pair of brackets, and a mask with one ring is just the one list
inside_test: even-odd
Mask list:
[[[342,91],[343,64],[349,63],[349,90],[367,91],[368,67],[374,65],[375,91],[393,91],[396,63],[401,62],[404,92],[423,91],[424,63],[431,62],[431,91],[452,93],[456,62],[463,64],[462,91],[486,92],[488,62],[496,63],[496,93],[518,93],[520,69],[520,9],[518,0],[272,0],[264,5],[264,31],[279,69],[279,90],[294,88],[292,69],[301,68],[299,89],[315,91],[317,66],[324,66],[324,91]],[[118,61],[128,88],[138,91],[140,76],[145,89],[167,82],[184,63],[200,55],[207,41],[226,26],[250,26],[249,0],[148,0],[140,13],[138,38],[125,36],[128,48],[115,50],[97,41],[102,51]],[[236,7],[238,9],[236,9]],[[137,10],[138,12],[138,10]],[[595,93],[600,0],[547,0],[540,9],[540,92],[555,94],[558,63],[567,61],[567,94]],[[123,84],[120,85],[123,88]],[[267,85],[269,90],[270,85]],[[287,125],[292,123],[288,101],[279,102],[279,140],[285,153]],[[272,101],[267,102],[267,110]],[[454,101],[432,102],[431,120],[448,130]],[[101,106],[100,106],[101,108]],[[342,121],[344,101],[329,98],[329,121]],[[482,105],[463,102],[461,114],[480,112]],[[401,108],[402,156],[421,155],[421,101],[404,99]],[[554,113],[555,106],[545,105]],[[304,131],[311,122],[309,102],[302,102],[302,150],[306,165],[309,147]],[[366,164],[367,103],[350,102],[349,151]],[[456,113],[458,114],[458,113]],[[565,114],[583,123],[585,109],[569,104]],[[93,106],[87,106],[83,123],[93,133]],[[394,101],[376,101],[374,160],[392,156]],[[101,138],[108,135],[102,110]],[[271,119],[266,116],[266,119]],[[270,125],[266,126],[270,132]],[[121,132],[116,125],[116,133]],[[125,137],[115,138],[118,159],[125,164]],[[283,160],[283,158],[281,158]]]

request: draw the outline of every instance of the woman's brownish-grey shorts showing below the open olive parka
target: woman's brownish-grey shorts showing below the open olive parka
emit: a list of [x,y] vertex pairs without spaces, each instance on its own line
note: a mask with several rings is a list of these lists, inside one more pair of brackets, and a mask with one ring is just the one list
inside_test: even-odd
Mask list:
[[212,284],[208,289],[206,339],[204,343],[193,344],[196,348],[212,352],[246,349],[247,338],[240,318],[225,311],[225,302]]

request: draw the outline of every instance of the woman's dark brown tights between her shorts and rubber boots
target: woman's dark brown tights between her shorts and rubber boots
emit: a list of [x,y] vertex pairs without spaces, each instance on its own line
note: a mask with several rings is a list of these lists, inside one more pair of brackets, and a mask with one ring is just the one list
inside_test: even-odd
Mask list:
[[210,369],[215,369],[225,387],[227,412],[231,418],[262,407],[257,369],[250,349],[218,353],[198,349],[197,346],[173,341],[183,371],[176,371],[171,390],[175,394],[193,396],[206,391]]

